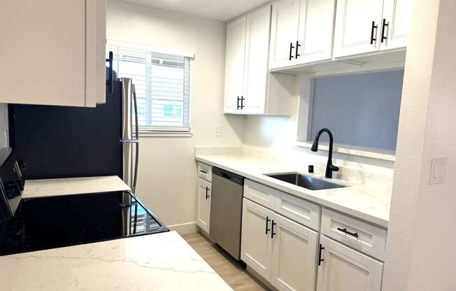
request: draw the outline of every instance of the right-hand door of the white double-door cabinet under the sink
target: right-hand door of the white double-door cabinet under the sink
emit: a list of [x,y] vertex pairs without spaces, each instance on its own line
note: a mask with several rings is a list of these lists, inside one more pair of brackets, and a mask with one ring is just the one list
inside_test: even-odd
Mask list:
[[284,291],[315,290],[318,234],[281,215],[273,222],[272,285]]

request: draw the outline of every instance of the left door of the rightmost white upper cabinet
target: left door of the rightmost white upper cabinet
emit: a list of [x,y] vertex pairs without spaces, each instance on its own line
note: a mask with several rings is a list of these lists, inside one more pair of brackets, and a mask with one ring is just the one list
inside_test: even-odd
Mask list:
[[[378,50],[382,11],[383,0],[337,1],[334,57]],[[371,43],[371,37],[376,41]]]

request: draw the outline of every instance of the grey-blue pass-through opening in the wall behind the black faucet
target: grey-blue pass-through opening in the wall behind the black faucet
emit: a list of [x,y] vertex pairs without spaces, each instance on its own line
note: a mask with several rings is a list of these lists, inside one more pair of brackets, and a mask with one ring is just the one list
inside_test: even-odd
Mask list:
[[312,142],[328,128],[339,146],[394,152],[403,78],[404,71],[387,71],[313,80],[311,96],[302,102],[308,108],[300,108],[298,141]]

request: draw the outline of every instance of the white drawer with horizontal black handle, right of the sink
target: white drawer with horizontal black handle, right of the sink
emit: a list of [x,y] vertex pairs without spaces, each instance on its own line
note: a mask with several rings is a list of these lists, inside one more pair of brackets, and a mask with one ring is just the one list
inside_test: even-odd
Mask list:
[[387,231],[323,208],[322,234],[383,261]]

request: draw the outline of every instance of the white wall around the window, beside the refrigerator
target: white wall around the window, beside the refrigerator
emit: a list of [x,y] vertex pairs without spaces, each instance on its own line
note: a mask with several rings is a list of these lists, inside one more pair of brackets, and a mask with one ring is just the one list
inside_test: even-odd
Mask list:
[[[107,37],[194,52],[191,138],[141,138],[138,196],[166,225],[195,221],[194,146],[241,146],[245,118],[223,115],[225,23],[108,1]],[[222,128],[216,137],[215,125]]]

